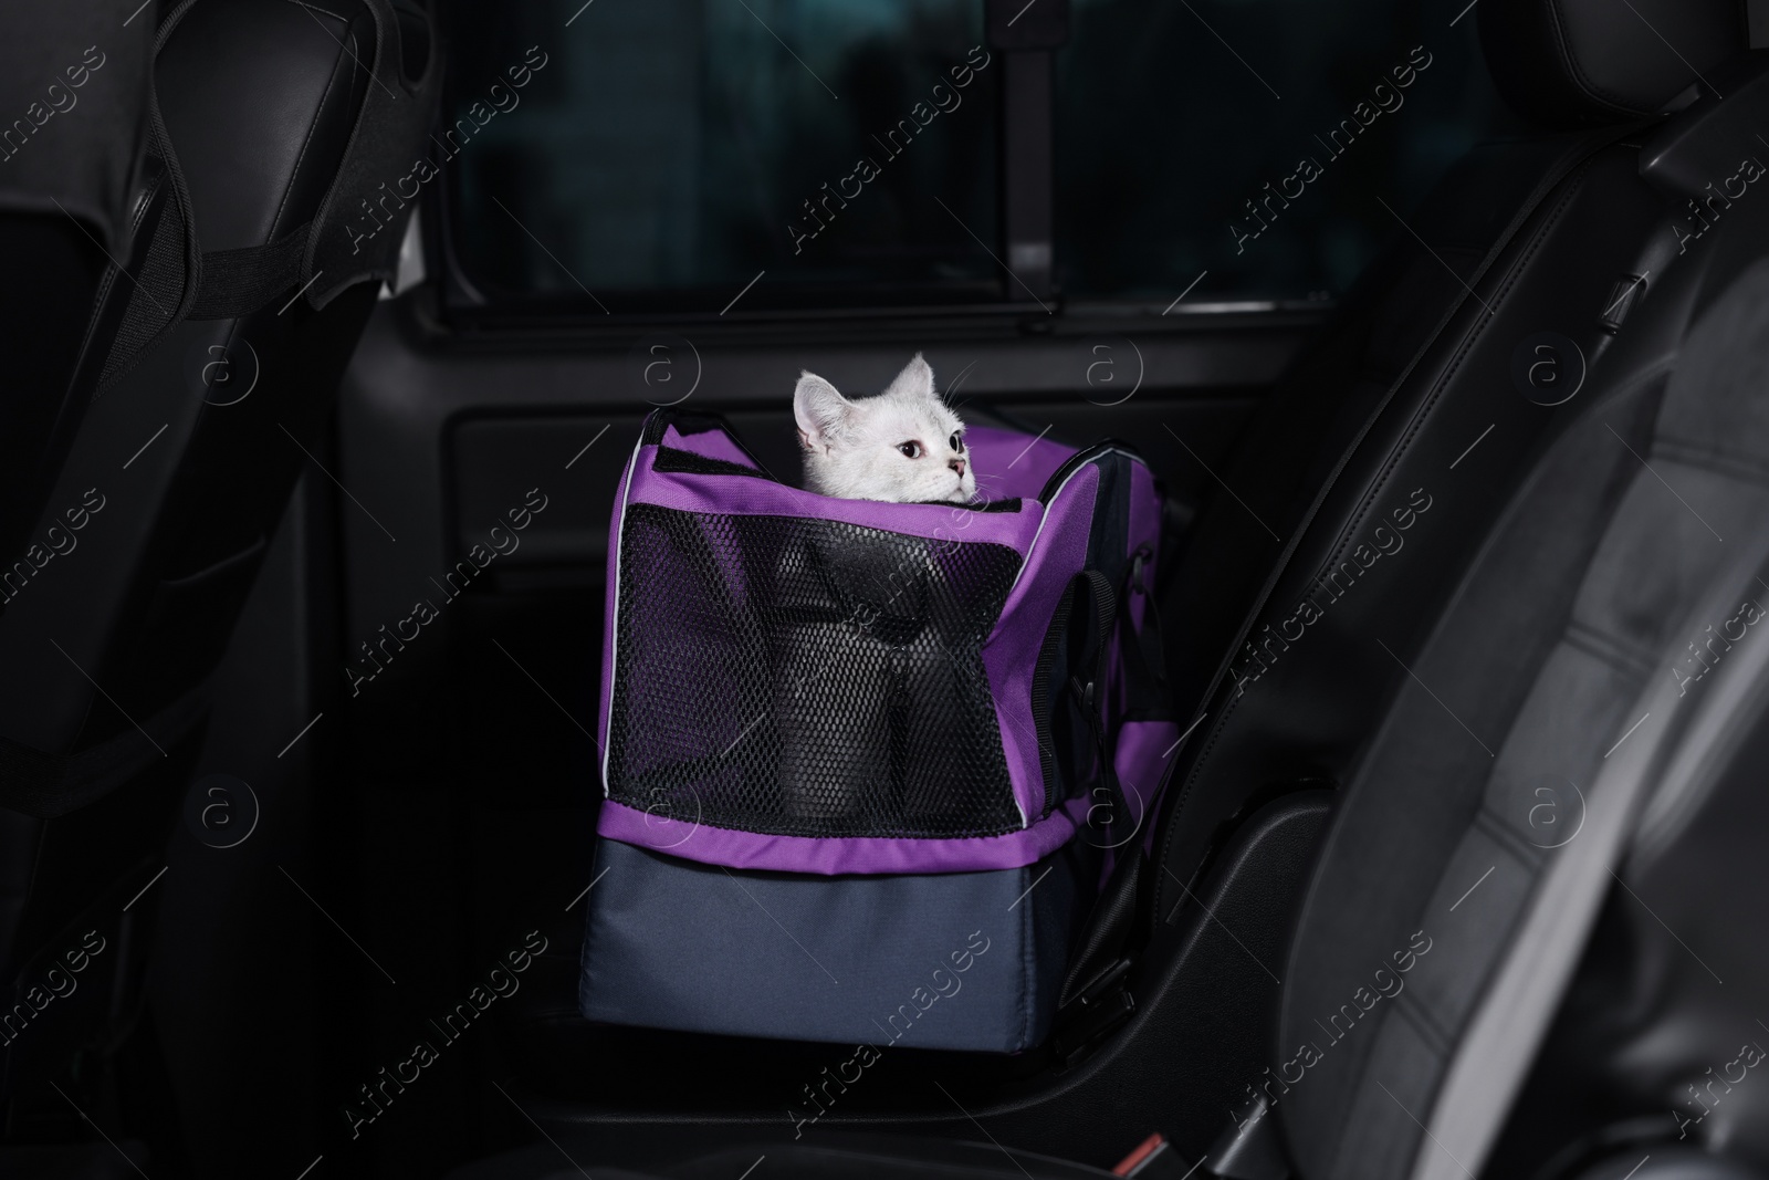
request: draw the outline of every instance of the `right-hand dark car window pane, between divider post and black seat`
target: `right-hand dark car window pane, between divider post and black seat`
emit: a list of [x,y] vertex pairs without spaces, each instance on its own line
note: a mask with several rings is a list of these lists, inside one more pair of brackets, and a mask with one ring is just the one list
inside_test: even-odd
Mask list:
[[1456,7],[1074,0],[1056,111],[1065,294],[1343,292],[1451,161],[1516,126],[1474,5]]

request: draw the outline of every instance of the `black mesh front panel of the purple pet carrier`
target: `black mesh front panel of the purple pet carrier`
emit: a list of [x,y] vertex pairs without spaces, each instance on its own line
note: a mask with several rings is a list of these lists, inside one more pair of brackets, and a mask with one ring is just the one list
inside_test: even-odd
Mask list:
[[1012,548],[635,504],[619,564],[612,800],[766,835],[1021,826],[982,663]]

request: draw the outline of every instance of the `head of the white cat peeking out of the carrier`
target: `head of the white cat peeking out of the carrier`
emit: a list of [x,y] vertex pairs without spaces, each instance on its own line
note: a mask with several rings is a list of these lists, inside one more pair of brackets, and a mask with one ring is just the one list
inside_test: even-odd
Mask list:
[[964,423],[934,393],[934,370],[916,352],[884,393],[849,402],[803,373],[793,418],[805,448],[805,487],[849,501],[952,501],[976,495]]

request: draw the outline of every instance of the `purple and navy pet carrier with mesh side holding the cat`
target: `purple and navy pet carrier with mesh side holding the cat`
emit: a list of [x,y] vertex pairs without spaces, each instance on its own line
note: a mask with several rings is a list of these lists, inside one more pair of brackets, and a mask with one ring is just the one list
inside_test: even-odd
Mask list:
[[586,1017],[1012,1053],[1086,1001],[1090,913],[1125,909],[1102,892],[1136,888],[1178,736],[1160,492],[1116,444],[966,439],[975,504],[881,504],[780,483],[718,418],[647,419]]

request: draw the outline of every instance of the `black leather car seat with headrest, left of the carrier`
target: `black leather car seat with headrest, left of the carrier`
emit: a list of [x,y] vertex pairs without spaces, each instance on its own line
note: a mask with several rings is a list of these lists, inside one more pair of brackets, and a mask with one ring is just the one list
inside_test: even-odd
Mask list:
[[[76,922],[111,936],[134,923],[115,941],[136,957],[149,941],[152,895],[133,897],[163,865],[207,679],[265,538],[324,451],[338,379],[393,274],[403,205],[377,211],[391,228],[366,249],[352,218],[430,127],[435,50],[403,0],[186,0],[157,25],[134,249],[106,264],[80,317],[81,421],[0,570],[0,807],[30,828],[32,872],[9,980],[53,959]],[[127,1017],[140,962],[111,964],[127,977],[113,1015]],[[106,1023],[76,1028],[62,1023],[103,1040]],[[14,1125],[28,1125],[16,1102],[67,1069],[67,1037],[9,1049]]]

